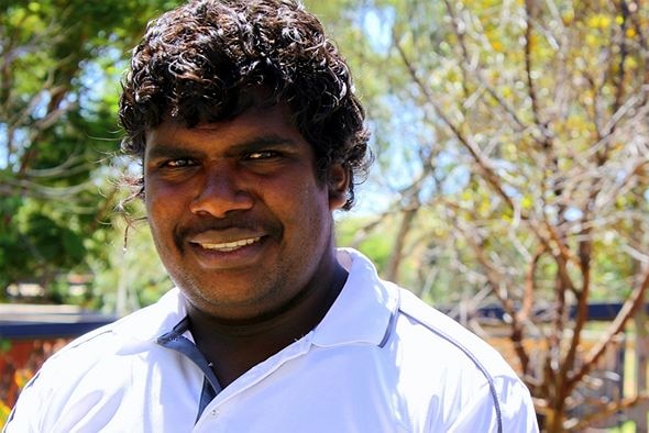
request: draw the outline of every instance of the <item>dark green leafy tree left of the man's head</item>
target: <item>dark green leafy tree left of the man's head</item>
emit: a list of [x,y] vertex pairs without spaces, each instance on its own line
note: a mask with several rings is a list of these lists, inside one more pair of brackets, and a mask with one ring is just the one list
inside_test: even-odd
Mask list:
[[121,137],[123,53],[174,3],[0,3],[0,288],[51,289],[107,259],[118,190],[101,179]]

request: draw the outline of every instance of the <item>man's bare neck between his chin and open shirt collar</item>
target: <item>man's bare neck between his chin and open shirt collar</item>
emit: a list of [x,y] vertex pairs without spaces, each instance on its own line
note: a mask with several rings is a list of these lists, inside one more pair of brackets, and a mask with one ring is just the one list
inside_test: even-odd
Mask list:
[[346,270],[334,260],[330,278],[311,281],[280,309],[250,320],[222,320],[189,306],[198,348],[215,365],[222,387],[309,333],[342,290]]

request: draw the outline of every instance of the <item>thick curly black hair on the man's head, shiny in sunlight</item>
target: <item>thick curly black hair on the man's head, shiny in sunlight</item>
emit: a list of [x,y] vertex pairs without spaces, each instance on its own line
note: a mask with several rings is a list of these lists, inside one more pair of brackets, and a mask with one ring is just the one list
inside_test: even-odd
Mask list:
[[147,130],[165,116],[187,127],[232,119],[258,101],[286,102],[314,146],[318,177],[332,164],[354,184],[372,155],[351,75],[322,24],[293,0],[194,0],[152,21],[122,80],[122,151],[143,157]]

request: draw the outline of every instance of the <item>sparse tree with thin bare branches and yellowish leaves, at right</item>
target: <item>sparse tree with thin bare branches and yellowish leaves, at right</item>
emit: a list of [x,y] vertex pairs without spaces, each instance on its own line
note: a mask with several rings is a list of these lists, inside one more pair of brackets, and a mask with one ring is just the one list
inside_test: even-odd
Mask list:
[[[383,274],[502,306],[548,431],[646,399],[583,390],[649,286],[649,5],[375,0],[346,16],[374,41],[336,27],[394,197],[371,223],[397,224]],[[603,297],[624,306],[587,347]]]

